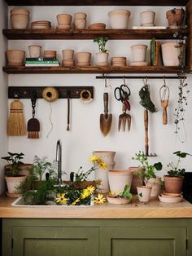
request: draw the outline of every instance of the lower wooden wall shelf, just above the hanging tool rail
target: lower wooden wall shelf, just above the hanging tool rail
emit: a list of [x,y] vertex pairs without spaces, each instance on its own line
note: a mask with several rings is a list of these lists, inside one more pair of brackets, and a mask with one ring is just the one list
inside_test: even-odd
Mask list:
[[[2,67],[2,70],[11,74],[53,74],[53,73],[178,73],[177,67],[146,66],[146,67]],[[190,73],[190,68],[185,67],[185,72]]]

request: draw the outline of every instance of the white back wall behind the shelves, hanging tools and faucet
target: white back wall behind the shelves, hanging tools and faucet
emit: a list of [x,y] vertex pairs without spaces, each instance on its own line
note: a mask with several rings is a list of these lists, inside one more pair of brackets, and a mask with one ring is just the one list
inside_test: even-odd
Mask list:
[[[50,20],[55,27],[56,15],[59,13],[74,14],[78,11],[88,13],[89,24],[94,22],[105,22],[108,24],[107,13],[118,7],[31,7],[32,21]],[[120,7],[123,8],[123,7]],[[125,8],[125,7],[124,7]],[[129,28],[139,25],[139,13],[144,10],[156,12],[156,25],[167,25],[165,12],[171,7],[127,7],[132,12]],[[125,55],[131,60],[130,46],[142,43],[150,46],[150,40],[111,40],[107,42],[107,49],[110,55]],[[41,45],[43,49],[55,49],[58,51],[61,60],[61,50],[72,48],[75,51],[90,51],[93,54],[92,64],[95,64],[95,53],[98,46],[93,40],[26,40],[9,41],[9,49],[23,49],[27,51],[28,45]],[[149,53],[149,52],[148,52]],[[139,76],[139,75],[138,75]],[[189,75],[189,86],[192,78]],[[91,152],[94,150],[116,151],[116,168],[125,169],[128,166],[137,166],[137,162],[131,160],[135,152],[144,150],[144,125],[143,108],[139,104],[138,91],[142,87],[142,80],[127,81],[132,95],[130,97],[132,117],[131,131],[118,132],[118,117],[121,113],[121,104],[113,96],[116,86],[120,86],[123,80],[110,80],[109,89],[110,106],[109,112],[113,115],[111,132],[103,137],[99,130],[99,116],[103,113],[103,90],[104,81],[96,80],[95,74],[37,74],[37,75],[9,75],[9,86],[94,86],[94,101],[91,104],[82,104],[79,99],[72,99],[72,130],[67,131],[67,99],[59,99],[51,104],[52,121],[54,129],[49,138],[46,138],[50,130],[50,104],[43,99],[37,101],[37,118],[41,122],[41,138],[27,139],[26,137],[9,137],[9,150],[11,152],[24,152],[25,161],[33,161],[37,154],[39,157],[48,156],[50,160],[55,158],[55,145],[57,139],[63,142],[63,170],[67,173],[78,170],[79,166],[89,168],[88,161]],[[185,113],[185,129],[187,140],[185,143],[176,141],[174,135],[174,108],[177,106],[178,80],[168,80],[170,88],[170,103],[168,106],[168,125],[162,124],[162,108],[159,101],[159,88],[163,85],[161,80],[151,80],[151,99],[158,108],[158,113],[150,113],[149,139],[150,152],[156,152],[158,157],[150,160],[163,161],[164,164],[173,160],[172,152],[182,150],[192,152],[192,116],[190,114],[192,94],[188,99],[188,107]],[[31,104],[29,99],[22,100],[26,120],[31,118]],[[186,158],[184,166],[191,171],[192,158]]]

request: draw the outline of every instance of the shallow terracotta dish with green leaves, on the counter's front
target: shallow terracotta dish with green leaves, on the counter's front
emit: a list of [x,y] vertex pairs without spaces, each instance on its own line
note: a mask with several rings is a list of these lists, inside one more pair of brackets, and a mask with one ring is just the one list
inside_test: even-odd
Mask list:
[[124,190],[119,192],[118,195],[114,194],[114,192],[110,192],[110,194],[107,196],[107,201],[110,204],[125,205],[129,204],[132,198],[133,195],[130,192],[130,186],[126,184],[124,186]]

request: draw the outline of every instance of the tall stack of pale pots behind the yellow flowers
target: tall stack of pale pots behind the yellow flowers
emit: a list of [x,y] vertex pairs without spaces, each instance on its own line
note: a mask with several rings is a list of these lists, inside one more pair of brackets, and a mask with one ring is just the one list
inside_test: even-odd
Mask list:
[[116,162],[114,161],[116,152],[114,151],[94,151],[93,155],[96,157],[101,157],[103,161],[107,164],[107,169],[95,170],[95,179],[101,180],[98,192],[106,193],[109,192],[109,181],[108,181],[108,171],[113,170]]

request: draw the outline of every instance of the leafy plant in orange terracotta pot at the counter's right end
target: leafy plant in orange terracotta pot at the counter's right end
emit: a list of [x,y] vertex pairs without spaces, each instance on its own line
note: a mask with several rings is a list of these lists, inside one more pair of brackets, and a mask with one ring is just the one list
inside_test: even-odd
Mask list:
[[186,152],[173,152],[177,156],[177,162],[168,164],[168,175],[164,175],[164,189],[168,193],[181,193],[182,183],[185,174],[185,168],[180,168],[181,159],[186,156],[191,156]]

